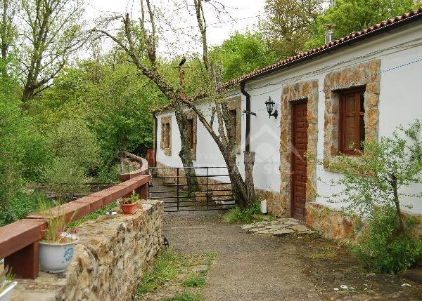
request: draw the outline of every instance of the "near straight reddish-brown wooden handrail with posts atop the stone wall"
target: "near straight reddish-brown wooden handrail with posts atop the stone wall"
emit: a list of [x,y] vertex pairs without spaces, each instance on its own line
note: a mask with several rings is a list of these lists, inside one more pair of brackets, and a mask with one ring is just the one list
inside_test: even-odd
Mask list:
[[[79,220],[121,197],[130,196],[133,191],[141,199],[147,199],[150,180],[151,175],[137,175],[108,189],[52,208],[51,212],[54,217],[65,215],[70,222]],[[11,266],[18,278],[35,279],[38,276],[39,241],[48,225],[44,216],[34,213],[23,220],[0,227],[0,258],[5,258],[5,265]]]

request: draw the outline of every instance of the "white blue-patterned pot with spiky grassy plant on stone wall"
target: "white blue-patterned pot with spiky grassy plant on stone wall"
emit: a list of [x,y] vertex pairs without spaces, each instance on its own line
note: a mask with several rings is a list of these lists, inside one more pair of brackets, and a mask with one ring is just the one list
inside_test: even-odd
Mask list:
[[[39,242],[39,267],[42,271],[49,273],[64,272],[72,261],[75,244],[79,241],[79,237],[70,233],[68,229],[70,222],[66,221],[65,214],[53,215],[51,209],[41,210],[41,214],[48,220],[49,227]],[[74,216],[75,213],[70,220]],[[66,229],[68,229],[67,232]]]

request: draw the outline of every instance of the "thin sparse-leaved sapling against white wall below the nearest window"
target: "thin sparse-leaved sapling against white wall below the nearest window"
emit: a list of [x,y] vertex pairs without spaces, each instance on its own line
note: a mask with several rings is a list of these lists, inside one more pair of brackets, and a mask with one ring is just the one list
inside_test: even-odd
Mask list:
[[400,232],[404,232],[400,197],[422,197],[422,192],[406,194],[404,187],[422,182],[421,123],[409,128],[399,126],[391,137],[364,142],[364,152],[358,157],[341,155],[331,163],[334,170],[342,170],[343,177],[335,184],[344,187],[333,195],[348,202],[347,209],[373,214],[376,206],[395,208]]

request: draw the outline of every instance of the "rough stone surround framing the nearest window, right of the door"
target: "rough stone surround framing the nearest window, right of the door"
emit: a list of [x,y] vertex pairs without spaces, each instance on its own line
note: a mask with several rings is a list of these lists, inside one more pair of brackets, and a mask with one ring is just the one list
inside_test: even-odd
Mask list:
[[334,170],[339,155],[340,92],[364,87],[365,141],[378,140],[381,60],[370,60],[326,74],[324,79],[324,169]]

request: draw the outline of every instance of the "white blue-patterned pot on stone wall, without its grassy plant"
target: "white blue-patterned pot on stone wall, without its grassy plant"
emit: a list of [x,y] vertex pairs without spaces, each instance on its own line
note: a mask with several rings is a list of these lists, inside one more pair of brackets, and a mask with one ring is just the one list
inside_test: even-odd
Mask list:
[[70,264],[79,237],[75,234],[62,233],[62,237],[72,239],[70,243],[39,243],[39,267],[44,272],[60,273]]

